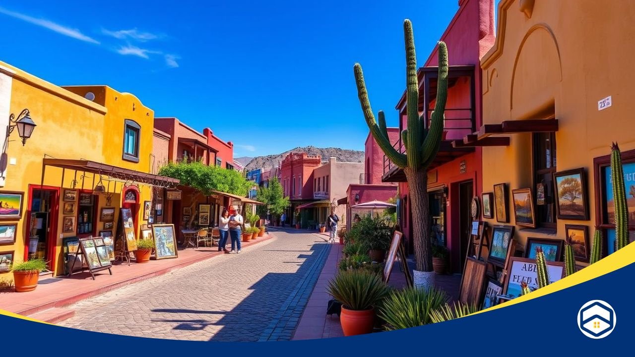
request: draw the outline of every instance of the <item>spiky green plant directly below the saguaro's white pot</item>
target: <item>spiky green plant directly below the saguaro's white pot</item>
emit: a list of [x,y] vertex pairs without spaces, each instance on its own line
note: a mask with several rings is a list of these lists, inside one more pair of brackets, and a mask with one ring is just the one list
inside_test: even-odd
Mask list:
[[392,292],[384,300],[378,316],[387,330],[417,327],[431,323],[430,313],[448,302],[448,295],[436,288],[405,288]]

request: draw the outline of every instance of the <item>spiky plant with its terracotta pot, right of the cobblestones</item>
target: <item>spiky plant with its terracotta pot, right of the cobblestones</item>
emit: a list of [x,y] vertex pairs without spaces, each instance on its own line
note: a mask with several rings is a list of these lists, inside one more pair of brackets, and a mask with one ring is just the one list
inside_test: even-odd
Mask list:
[[345,336],[352,336],[373,331],[375,306],[388,294],[389,287],[378,274],[350,269],[340,271],[326,290],[342,303],[342,331]]

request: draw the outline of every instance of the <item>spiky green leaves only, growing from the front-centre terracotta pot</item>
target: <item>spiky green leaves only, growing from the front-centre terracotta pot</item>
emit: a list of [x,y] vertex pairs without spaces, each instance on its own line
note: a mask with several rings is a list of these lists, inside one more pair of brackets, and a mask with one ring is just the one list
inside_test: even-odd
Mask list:
[[382,302],[389,287],[382,277],[369,271],[352,269],[340,271],[329,281],[326,292],[350,310],[368,310]]

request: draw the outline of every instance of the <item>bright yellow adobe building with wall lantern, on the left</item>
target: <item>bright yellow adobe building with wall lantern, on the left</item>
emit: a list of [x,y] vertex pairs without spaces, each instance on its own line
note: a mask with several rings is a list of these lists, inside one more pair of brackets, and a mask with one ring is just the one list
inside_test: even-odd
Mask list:
[[[41,257],[63,274],[65,243],[116,234],[121,207],[138,236],[153,185],[175,183],[150,174],[154,112],[130,93],[62,88],[0,62],[0,125],[14,125],[10,115],[23,109],[37,126],[25,145],[18,130],[4,145],[0,201],[12,208],[0,210],[0,259]],[[0,265],[0,281],[11,278]]]

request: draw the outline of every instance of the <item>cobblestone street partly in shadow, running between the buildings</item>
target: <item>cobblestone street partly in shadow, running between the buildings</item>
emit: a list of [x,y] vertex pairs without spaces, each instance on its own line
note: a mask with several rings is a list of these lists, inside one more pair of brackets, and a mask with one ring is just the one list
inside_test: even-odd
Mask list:
[[59,325],[182,340],[290,340],[330,245],[319,234],[275,238],[70,306]]

